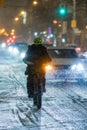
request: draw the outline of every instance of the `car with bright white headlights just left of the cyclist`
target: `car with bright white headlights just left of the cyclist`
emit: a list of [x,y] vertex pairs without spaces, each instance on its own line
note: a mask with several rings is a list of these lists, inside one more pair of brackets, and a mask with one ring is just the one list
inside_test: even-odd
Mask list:
[[17,42],[14,44],[10,44],[7,47],[7,50],[10,52],[10,55],[12,55],[15,58],[24,58],[25,53],[27,51],[28,44],[24,42]]

